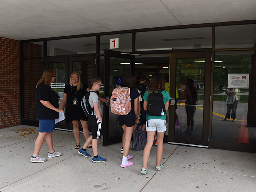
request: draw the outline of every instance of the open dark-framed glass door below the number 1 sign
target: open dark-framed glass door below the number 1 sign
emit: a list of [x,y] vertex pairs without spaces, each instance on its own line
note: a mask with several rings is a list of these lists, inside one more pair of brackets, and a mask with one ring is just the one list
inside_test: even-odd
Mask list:
[[[110,98],[113,89],[119,86],[125,74],[134,73],[135,56],[117,51],[105,50],[104,53],[104,98]],[[110,111],[110,105],[104,104],[103,145],[122,142],[123,129],[117,115]]]

